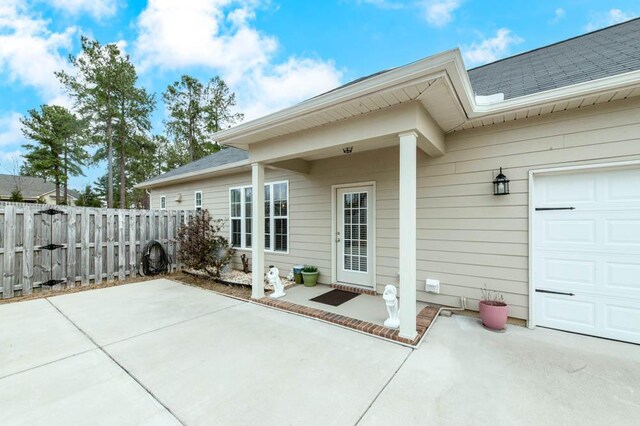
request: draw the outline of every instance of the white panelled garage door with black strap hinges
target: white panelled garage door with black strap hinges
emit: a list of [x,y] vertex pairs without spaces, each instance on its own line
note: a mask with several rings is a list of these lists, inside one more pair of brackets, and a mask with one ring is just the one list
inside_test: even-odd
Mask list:
[[640,168],[534,185],[536,324],[640,343]]

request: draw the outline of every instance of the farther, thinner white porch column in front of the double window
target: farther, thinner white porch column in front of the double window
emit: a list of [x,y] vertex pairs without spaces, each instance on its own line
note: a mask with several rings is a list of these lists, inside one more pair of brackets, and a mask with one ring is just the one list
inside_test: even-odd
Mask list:
[[251,165],[251,298],[264,297],[264,164]]

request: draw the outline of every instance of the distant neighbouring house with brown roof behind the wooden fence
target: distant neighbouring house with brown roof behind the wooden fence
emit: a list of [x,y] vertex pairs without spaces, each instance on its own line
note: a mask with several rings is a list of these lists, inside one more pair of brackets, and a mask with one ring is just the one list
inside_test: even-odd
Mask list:
[[[0,174],[0,201],[10,201],[11,193],[16,188],[20,189],[23,202],[25,203],[41,202],[49,205],[56,204],[55,183],[47,182],[43,178],[33,176]],[[62,189],[60,190],[60,195],[64,197]],[[78,195],[78,191],[70,189],[67,204],[75,203]]]

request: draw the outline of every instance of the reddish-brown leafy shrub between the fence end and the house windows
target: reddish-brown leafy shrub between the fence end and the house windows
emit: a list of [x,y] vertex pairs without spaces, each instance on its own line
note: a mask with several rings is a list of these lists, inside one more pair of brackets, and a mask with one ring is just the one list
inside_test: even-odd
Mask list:
[[222,236],[225,222],[211,219],[204,210],[180,227],[178,258],[185,266],[220,278],[220,271],[235,253],[229,240]]

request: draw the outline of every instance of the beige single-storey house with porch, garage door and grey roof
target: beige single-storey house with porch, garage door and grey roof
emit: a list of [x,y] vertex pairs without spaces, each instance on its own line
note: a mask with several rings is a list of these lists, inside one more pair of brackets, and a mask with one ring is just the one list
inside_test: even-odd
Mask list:
[[638,19],[471,70],[447,51],[216,136],[139,186],[228,219],[253,297],[265,265],[312,264],[399,286],[402,337],[415,300],[477,309],[486,286],[530,327],[640,342]]

